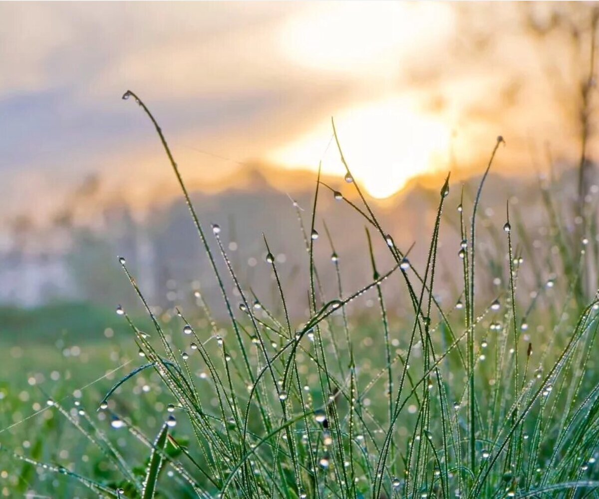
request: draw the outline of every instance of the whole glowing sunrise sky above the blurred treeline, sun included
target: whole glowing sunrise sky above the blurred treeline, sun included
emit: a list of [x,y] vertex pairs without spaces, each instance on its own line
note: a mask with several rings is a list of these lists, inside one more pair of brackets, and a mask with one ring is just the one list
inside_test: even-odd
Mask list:
[[[2,223],[47,217],[92,174],[137,205],[155,201],[156,185],[168,197],[164,152],[141,109],[120,98],[127,89],[155,114],[184,178],[205,190],[256,166],[275,184],[285,169],[319,163],[343,176],[332,117],[374,197],[423,174],[477,172],[500,134],[506,175],[534,173],[548,144],[575,161],[590,8],[0,2]],[[583,26],[574,41],[572,26]]]

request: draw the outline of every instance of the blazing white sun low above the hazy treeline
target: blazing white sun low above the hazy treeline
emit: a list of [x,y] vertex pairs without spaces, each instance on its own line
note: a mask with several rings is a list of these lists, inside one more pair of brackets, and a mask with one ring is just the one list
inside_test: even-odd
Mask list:
[[[345,110],[334,117],[343,155],[353,178],[373,197],[386,198],[422,173],[444,169],[450,128],[418,112],[409,101],[389,98]],[[268,159],[285,167],[345,175],[329,120],[273,151]]]

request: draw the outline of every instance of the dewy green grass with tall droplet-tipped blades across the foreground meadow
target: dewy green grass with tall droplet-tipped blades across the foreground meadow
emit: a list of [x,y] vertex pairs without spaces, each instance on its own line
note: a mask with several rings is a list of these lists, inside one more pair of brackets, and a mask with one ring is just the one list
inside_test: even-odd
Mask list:
[[[360,264],[371,266],[373,280],[361,289],[344,289],[343,275],[351,267],[343,267],[328,229],[337,281],[319,279],[314,246],[327,243],[315,227],[319,196],[328,187],[319,174],[307,229],[298,211],[310,317],[297,323],[288,312],[271,243],[264,241],[264,264],[280,312],[239,281],[220,227],[202,225],[146,104],[130,91],[123,98],[136,101],[155,126],[222,292],[228,323],[212,319],[199,292],[199,313],[188,317],[177,310],[165,323],[120,258],[153,326],[148,335],[147,324],[118,310],[129,331],[121,341],[140,351],[140,366],[115,378],[105,398],[87,400],[93,404],[89,412],[81,393],[75,404],[70,395],[53,393],[43,411],[52,416],[24,423],[33,425],[34,443],[3,442],[10,467],[4,495],[26,490],[144,499],[599,495],[599,302],[588,291],[586,273],[597,260],[594,201],[568,231],[568,208],[559,192],[542,187],[548,224],[555,229],[546,253],[531,242],[525,217],[511,214],[508,206],[503,237],[495,241],[498,257],[491,262],[503,278],[496,296],[485,296],[479,289],[489,275],[479,268],[477,209],[503,143],[498,137],[470,207],[462,192],[462,243],[455,257],[462,266],[462,290],[448,306],[435,290],[440,227],[447,209],[455,209],[447,206],[449,175],[438,196],[426,264],[415,269],[409,250],[395,245],[353,182],[335,131],[346,181],[360,205],[334,196],[364,218],[370,254]],[[208,238],[216,239],[216,253]],[[388,248],[391,268],[377,266],[376,244]],[[547,270],[557,277],[544,279]],[[397,315],[397,306],[386,301],[391,283],[403,288],[410,314]],[[361,303],[365,293],[376,297],[378,311],[350,315],[347,305]],[[199,327],[199,317],[211,325]],[[140,379],[150,387],[147,398]],[[60,432],[71,442],[80,435],[70,455],[53,452],[52,446],[64,446]]]

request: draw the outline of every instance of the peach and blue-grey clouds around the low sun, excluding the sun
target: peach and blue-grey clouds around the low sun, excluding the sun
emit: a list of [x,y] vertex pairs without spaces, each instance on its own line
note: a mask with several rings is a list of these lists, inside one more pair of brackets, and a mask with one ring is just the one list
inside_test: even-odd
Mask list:
[[567,53],[531,44],[512,4],[15,2],[0,16],[0,194],[14,211],[28,209],[17,179],[36,172],[67,183],[142,172],[140,185],[164,175],[147,118],[120,100],[128,88],[195,177],[235,163],[194,149],[264,160],[332,115],[407,97],[457,132],[462,166],[498,133],[512,139],[513,169],[530,136],[571,148],[539,58],[565,67]]

